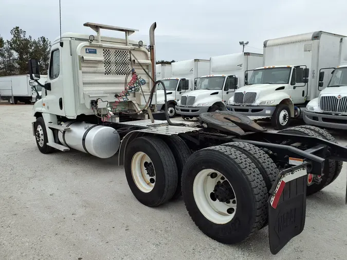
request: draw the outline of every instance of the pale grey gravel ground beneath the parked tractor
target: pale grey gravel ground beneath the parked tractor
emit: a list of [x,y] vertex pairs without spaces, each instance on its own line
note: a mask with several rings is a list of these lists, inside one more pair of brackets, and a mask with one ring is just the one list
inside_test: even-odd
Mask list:
[[[41,154],[31,108],[0,105],[0,259],[346,258],[346,164],[333,184],[307,199],[304,231],[273,256],[267,228],[222,245],[199,231],[182,199],[143,206],[117,157]],[[347,144],[345,132],[332,134]]]

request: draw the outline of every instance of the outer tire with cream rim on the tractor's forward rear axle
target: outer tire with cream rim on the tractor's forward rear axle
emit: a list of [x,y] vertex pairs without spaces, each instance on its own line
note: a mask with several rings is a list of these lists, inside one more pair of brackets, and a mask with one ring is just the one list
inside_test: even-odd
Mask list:
[[159,206],[175,194],[177,164],[169,146],[159,137],[134,139],[126,147],[124,161],[127,183],[143,205]]

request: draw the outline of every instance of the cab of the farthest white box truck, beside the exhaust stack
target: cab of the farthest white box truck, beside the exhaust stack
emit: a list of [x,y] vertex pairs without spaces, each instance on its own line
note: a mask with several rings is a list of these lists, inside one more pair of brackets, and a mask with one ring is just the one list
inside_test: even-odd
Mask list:
[[[173,118],[176,115],[176,104],[181,96],[193,89],[193,82],[190,78],[167,78],[161,80],[166,88],[168,102],[168,116]],[[165,103],[164,89],[161,83],[157,88],[157,109],[163,110]]]

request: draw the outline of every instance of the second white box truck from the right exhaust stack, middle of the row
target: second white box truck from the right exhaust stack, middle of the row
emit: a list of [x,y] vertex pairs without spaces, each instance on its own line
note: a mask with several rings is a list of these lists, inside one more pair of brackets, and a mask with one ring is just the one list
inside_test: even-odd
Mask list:
[[225,110],[235,89],[244,85],[245,71],[263,64],[263,54],[241,52],[210,58],[210,75],[195,82],[195,90],[182,95],[177,114],[190,119],[205,112]]

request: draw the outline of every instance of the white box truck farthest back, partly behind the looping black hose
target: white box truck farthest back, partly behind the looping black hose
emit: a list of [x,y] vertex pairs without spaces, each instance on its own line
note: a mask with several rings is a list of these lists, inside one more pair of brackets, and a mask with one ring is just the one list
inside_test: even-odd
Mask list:
[[[167,89],[168,115],[170,118],[176,116],[175,107],[183,93],[193,90],[195,79],[205,76],[210,72],[209,60],[187,60],[171,63],[172,75],[170,78],[162,79]],[[157,79],[158,80],[158,79]],[[162,110],[164,104],[164,90],[158,86],[157,109]]]

